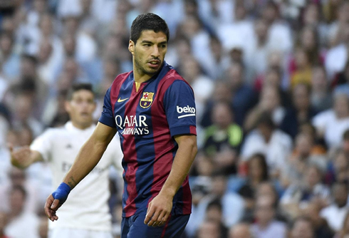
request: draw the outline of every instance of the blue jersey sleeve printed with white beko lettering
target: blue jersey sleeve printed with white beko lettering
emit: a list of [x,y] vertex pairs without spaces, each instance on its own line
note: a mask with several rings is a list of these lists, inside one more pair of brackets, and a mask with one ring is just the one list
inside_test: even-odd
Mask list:
[[167,88],[164,108],[172,137],[197,135],[194,92],[187,83],[177,80]]

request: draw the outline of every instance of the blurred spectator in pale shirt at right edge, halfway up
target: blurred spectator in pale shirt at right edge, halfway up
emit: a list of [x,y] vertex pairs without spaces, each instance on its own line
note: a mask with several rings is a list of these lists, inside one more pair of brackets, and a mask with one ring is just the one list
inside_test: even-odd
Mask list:
[[349,98],[348,95],[335,95],[333,108],[313,118],[313,125],[319,138],[325,140],[328,148],[340,145],[343,133],[349,128]]

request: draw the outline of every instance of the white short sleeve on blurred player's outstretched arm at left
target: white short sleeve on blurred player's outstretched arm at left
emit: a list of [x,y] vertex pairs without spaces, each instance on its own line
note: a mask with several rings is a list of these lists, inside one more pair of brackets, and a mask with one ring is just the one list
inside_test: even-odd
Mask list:
[[45,162],[48,162],[51,158],[52,142],[55,139],[53,130],[46,130],[31,143],[31,150],[40,152]]

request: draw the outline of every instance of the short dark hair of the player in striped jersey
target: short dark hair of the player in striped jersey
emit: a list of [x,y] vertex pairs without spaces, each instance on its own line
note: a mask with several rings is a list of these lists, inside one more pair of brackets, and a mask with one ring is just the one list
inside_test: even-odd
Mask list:
[[146,30],[152,30],[156,33],[162,31],[166,34],[167,42],[170,39],[170,30],[166,21],[157,14],[147,13],[138,15],[132,22],[130,40],[136,43],[142,31]]

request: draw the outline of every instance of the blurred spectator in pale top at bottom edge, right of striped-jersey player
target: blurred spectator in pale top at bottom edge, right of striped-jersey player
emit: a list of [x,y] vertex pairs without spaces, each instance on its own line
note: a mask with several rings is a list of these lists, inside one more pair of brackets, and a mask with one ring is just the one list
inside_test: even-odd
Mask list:
[[283,222],[275,220],[276,208],[269,197],[258,197],[256,200],[256,223],[251,227],[256,238],[286,238],[287,228]]

